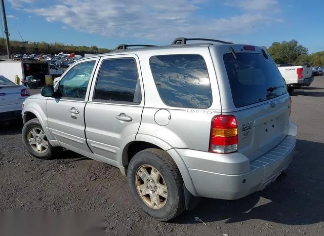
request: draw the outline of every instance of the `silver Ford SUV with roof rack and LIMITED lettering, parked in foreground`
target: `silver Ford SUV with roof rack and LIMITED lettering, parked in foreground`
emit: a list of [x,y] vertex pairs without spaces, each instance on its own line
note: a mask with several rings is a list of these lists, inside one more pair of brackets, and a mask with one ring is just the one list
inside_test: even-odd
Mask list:
[[35,158],[66,148],[119,168],[160,221],[200,197],[262,190],[288,168],[297,127],[265,50],[203,38],[136,46],[78,60],[26,99],[22,139]]

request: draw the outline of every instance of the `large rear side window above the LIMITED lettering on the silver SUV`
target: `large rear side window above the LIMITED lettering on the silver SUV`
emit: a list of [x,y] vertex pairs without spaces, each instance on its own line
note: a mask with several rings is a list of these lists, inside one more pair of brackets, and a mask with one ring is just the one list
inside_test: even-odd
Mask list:
[[149,62],[157,91],[166,105],[187,108],[212,105],[208,70],[202,56],[153,56]]

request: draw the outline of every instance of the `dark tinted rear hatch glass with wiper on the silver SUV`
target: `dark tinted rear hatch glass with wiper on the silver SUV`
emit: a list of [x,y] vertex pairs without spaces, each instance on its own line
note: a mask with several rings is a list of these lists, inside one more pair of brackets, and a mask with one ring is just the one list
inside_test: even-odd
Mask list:
[[262,102],[287,93],[286,83],[271,58],[257,53],[224,54],[236,107]]

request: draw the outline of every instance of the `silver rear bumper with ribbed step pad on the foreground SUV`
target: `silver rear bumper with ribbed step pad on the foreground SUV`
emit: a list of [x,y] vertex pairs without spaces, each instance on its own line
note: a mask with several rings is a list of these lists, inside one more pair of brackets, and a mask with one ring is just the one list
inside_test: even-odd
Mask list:
[[[295,128],[297,131],[296,126]],[[232,155],[231,158],[219,160],[215,156],[213,159],[210,158],[209,154],[213,155],[213,153],[188,149],[177,149],[177,151],[188,167],[198,196],[235,200],[264,189],[286,170],[293,160],[296,140],[296,135],[288,135],[280,144],[252,162],[240,153],[229,154]],[[200,156],[197,158],[199,152]],[[204,162],[197,165],[198,162],[195,162],[197,159]],[[213,172],[211,169],[218,169],[218,171]],[[245,169],[245,172],[240,172]],[[229,174],[231,172],[240,173]]]

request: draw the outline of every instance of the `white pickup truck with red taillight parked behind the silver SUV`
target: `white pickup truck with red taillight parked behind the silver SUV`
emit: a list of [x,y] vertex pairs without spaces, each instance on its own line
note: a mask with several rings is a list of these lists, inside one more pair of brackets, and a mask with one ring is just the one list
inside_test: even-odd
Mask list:
[[277,67],[286,81],[289,93],[302,86],[310,86],[314,81],[310,65],[292,66],[292,64],[277,64]]

